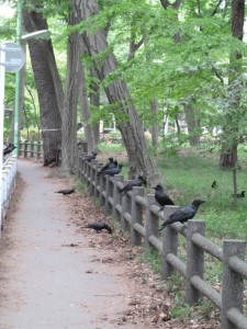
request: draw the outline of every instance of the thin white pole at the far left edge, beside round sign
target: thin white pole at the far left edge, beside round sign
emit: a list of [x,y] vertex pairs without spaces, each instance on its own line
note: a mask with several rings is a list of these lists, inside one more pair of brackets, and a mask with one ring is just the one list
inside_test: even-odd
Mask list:
[[0,225],[3,215],[3,182],[2,182],[2,161],[3,161],[3,120],[4,120],[4,90],[5,90],[5,46],[0,45]]

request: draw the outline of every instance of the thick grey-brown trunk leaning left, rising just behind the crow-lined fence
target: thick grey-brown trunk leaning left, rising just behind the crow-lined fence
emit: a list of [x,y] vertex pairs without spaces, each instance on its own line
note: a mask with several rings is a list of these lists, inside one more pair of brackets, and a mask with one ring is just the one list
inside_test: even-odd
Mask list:
[[[71,0],[71,4],[78,13],[79,21],[85,21],[98,12],[96,0]],[[103,81],[117,68],[116,59],[112,53],[104,55],[104,60],[102,56],[100,61],[97,60],[97,55],[104,53],[108,48],[105,33],[103,31],[99,31],[96,34],[83,33],[82,37],[88,54],[94,60],[98,78]],[[133,178],[137,173],[143,173],[151,184],[159,182],[160,173],[155,160],[148,156],[148,147],[142,123],[134,109],[125,82],[121,78],[114,79],[105,87],[105,93],[109,103],[117,106],[115,116],[119,117],[119,128],[128,156],[130,177]]]

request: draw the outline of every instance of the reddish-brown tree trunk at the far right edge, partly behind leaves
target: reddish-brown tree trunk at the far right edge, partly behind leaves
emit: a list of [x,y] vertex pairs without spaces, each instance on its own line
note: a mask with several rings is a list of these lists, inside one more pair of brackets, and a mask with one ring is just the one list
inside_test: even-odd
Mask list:
[[[232,34],[234,37],[243,41],[244,35],[245,1],[233,0],[232,2]],[[234,81],[238,78],[242,70],[242,55],[239,53],[231,54],[229,58],[229,88],[233,86],[233,94],[229,103],[231,107],[226,116],[226,123],[223,129],[223,145],[220,157],[220,167],[223,169],[235,168],[237,164],[238,147],[238,117],[236,111],[239,106],[240,94],[237,92]]]

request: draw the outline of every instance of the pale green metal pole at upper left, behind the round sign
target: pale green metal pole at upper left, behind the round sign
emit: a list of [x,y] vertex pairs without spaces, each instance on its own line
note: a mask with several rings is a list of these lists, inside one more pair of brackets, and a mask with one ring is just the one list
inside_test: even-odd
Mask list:
[[[22,0],[18,0],[18,24],[16,24],[16,43],[20,45],[22,37]],[[19,151],[19,113],[20,113],[20,71],[15,72],[15,95],[14,95],[14,145],[15,155]]]

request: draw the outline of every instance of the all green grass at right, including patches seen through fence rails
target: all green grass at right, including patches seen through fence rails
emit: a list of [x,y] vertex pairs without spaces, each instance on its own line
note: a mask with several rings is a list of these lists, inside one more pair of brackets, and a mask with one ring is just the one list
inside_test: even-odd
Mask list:
[[[237,200],[237,209],[233,207],[233,172],[218,167],[220,151],[214,148],[183,148],[177,151],[159,154],[158,166],[164,180],[160,182],[165,192],[170,195],[176,205],[184,206],[194,198],[203,198],[195,219],[206,222],[205,236],[222,246],[223,239],[247,240],[247,197]],[[247,191],[247,156],[246,148],[240,147],[238,154],[237,191]],[[126,169],[125,169],[126,170]],[[218,188],[211,188],[216,180]],[[153,192],[154,193],[154,192]],[[186,240],[179,237],[179,258],[183,260]],[[141,257],[142,262],[148,262],[155,273],[160,273],[160,257],[156,250],[147,249]],[[204,280],[221,288],[222,263],[212,256],[205,254]],[[145,281],[145,277],[144,277]],[[209,317],[211,311],[218,310],[211,302],[203,298],[198,308],[184,305],[183,279],[175,274],[166,281],[165,288],[176,292],[171,317],[191,319]]]

